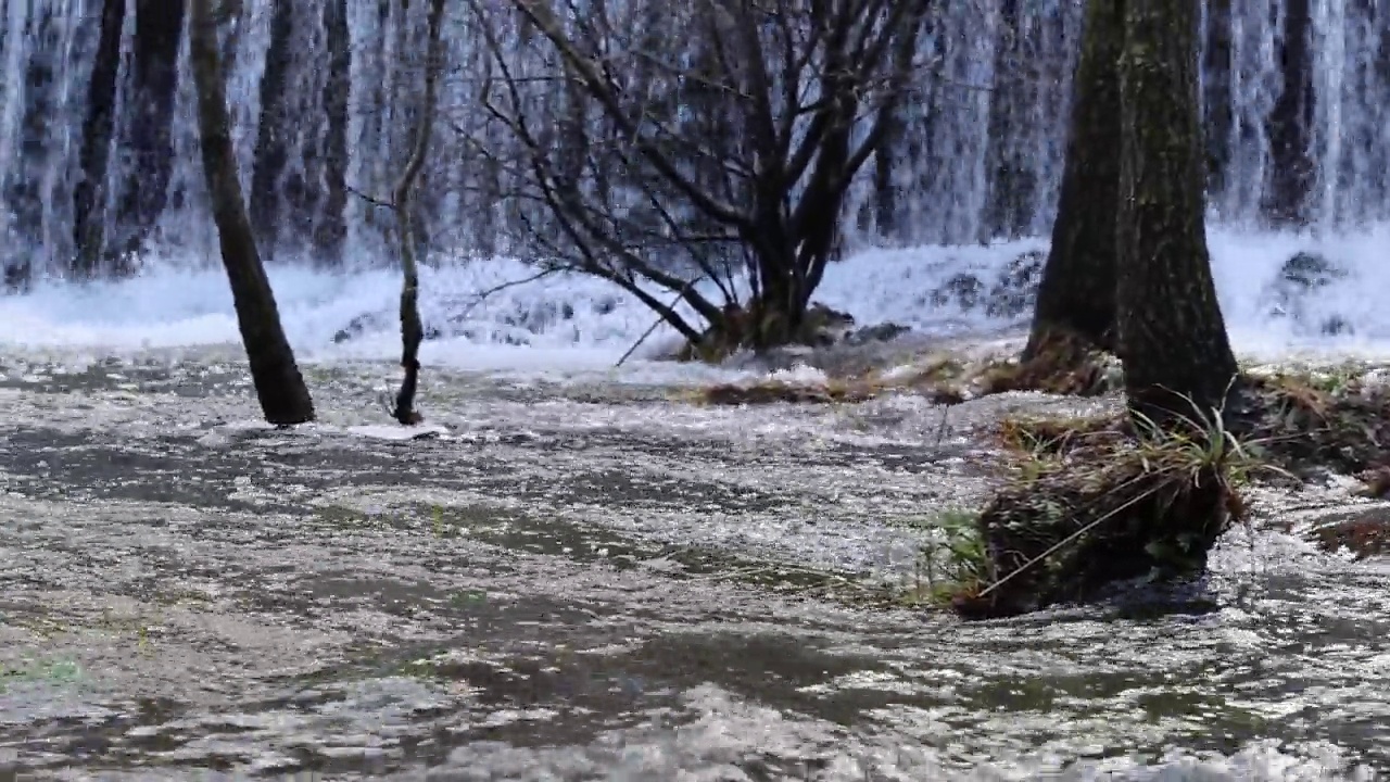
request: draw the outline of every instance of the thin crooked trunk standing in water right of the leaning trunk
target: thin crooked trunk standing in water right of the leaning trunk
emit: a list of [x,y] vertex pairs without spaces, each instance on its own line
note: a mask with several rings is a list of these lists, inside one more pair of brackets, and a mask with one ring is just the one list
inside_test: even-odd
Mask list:
[[420,269],[416,262],[416,221],[411,198],[414,196],[416,179],[420,177],[425,156],[430,153],[430,138],[434,132],[435,93],[439,85],[439,71],[443,68],[443,35],[439,29],[443,25],[443,4],[445,0],[430,1],[424,96],[420,100],[410,160],[406,161],[406,170],[396,181],[391,199],[399,225],[398,238],[403,277],[400,285],[400,366],[404,369],[404,378],[400,383],[400,392],[396,394],[396,406],[392,415],[406,426],[423,420],[420,412],[416,410],[416,388],[420,383],[420,342],[424,341],[424,326],[420,323]]

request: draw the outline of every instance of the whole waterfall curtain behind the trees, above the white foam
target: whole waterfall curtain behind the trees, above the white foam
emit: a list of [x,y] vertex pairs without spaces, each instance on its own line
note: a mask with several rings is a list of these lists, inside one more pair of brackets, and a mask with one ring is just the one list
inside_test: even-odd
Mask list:
[[[88,223],[100,228],[95,269],[120,267],[122,253],[143,250],[190,263],[213,257],[182,3],[0,1],[0,262],[71,269],[81,256],[74,223],[83,181],[96,216]],[[448,33],[456,71],[443,97],[455,122],[466,122],[475,104],[467,77],[477,57],[461,6]],[[234,138],[257,231],[275,257],[381,257],[392,220],[370,198],[389,192],[403,157],[420,4],[225,7]],[[929,68],[916,96],[884,160],[866,167],[851,199],[851,232],[895,245],[1045,235],[1081,3],[941,7],[923,42]],[[120,29],[106,31],[103,19],[120,19]],[[1202,25],[1218,223],[1279,225],[1298,213],[1304,224],[1337,232],[1390,217],[1390,6],[1209,0]],[[106,75],[114,85],[111,128],[83,153],[99,127],[89,102],[100,92],[93,83],[104,83],[93,67],[103,46],[120,53],[120,68]],[[498,174],[441,135],[446,141],[425,174],[427,241],[441,250],[492,252],[506,242],[506,218],[475,185]]]

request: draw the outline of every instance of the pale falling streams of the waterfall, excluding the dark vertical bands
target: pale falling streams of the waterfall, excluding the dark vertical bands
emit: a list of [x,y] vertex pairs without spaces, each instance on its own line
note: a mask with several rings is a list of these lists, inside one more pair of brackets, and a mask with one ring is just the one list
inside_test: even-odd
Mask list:
[[[0,0],[0,235],[7,238],[8,248],[32,250],[36,269],[60,269],[71,259],[74,191],[83,178],[83,120],[100,46],[99,19],[110,4]],[[215,242],[203,217],[206,203],[186,46],[160,54],[153,65],[139,65],[139,58],[149,56],[136,47],[138,6],[156,11],[160,6],[128,4],[114,43],[125,65],[114,93],[113,157],[104,181],[99,182],[104,209],[121,223],[108,232],[113,238],[124,235],[135,230],[135,223],[145,230],[145,223],[153,220],[158,241],[152,246],[206,259],[215,252]],[[224,54],[232,135],[243,185],[249,188],[257,139],[265,131],[260,127],[265,121],[261,103],[270,95],[261,77],[277,40],[277,25],[284,22],[279,67],[293,89],[279,96],[270,113],[284,120],[277,131],[284,136],[284,171],[274,175],[261,196],[285,199],[286,209],[304,199],[313,202],[304,209],[318,217],[297,221],[292,231],[297,237],[289,238],[303,239],[318,230],[328,209],[321,191],[327,186],[324,159],[332,154],[325,136],[331,122],[332,100],[324,97],[329,79],[341,78],[349,96],[348,182],[367,195],[389,192],[409,147],[409,121],[402,120],[409,118],[418,92],[413,81],[417,63],[410,57],[423,49],[424,13],[420,4],[325,0],[292,6],[279,19],[277,6],[270,0],[239,0],[227,7]],[[905,244],[958,244],[981,235],[1038,235],[1049,230],[1066,146],[1081,6],[1077,0],[937,4],[920,50],[929,67],[903,109],[892,152],[888,178],[901,214],[891,231],[870,224],[870,232],[890,231]],[[1270,113],[1286,81],[1284,19],[1302,8],[1311,53],[1298,77],[1307,81],[1312,103],[1298,121],[1305,125],[1307,142],[1300,147],[1305,147],[1314,173],[1308,195],[1311,221],[1323,230],[1344,230],[1390,218],[1386,179],[1390,11],[1384,4],[1213,0],[1202,6],[1201,95],[1208,146],[1223,161],[1222,174],[1212,179],[1213,216],[1229,225],[1255,221],[1270,195],[1276,168],[1289,164],[1273,156]],[[329,8],[343,8],[348,14],[342,28],[348,36],[348,61],[342,74],[334,71],[335,22],[325,13]],[[450,6],[446,22],[450,63],[475,72],[482,43],[471,25],[467,3]],[[521,46],[516,49],[521,57]],[[152,85],[164,83],[158,67],[168,57],[177,60],[168,64],[177,74],[165,79],[172,85],[165,95],[160,92],[164,88]],[[145,77],[150,85],[143,88],[142,67],[152,74]],[[485,114],[480,104],[484,82],[445,81],[441,100],[455,125]],[[140,89],[153,92],[145,95]],[[160,138],[152,141],[145,136],[156,131],[147,125],[160,121],[135,109],[161,100],[170,102],[171,118],[160,125]],[[486,186],[488,167],[456,134],[439,132],[435,138],[424,198],[436,203],[423,216],[427,234],[442,250],[478,249],[480,237],[502,220],[491,191],[480,191]],[[502,143],[489,136],[492,142]],[[152,157],[167,159],[170,168],[164,171],[163,163]],[[1008,177],[1001,179],[999,171],[1008,171]],[[869,177],[865,179],[852,199],[851,214],[874,213],[878,196]],[[150,189],[160,193],[146,192]],[[1016,202],[1011,207],[1015,214],[1004,224],[991,224],[991,199],[1001,189],[1016,191],[1008,196]],[[156,206],[135,214],[122,199]],[[353,257],[381,255],[379,212],[364,199],[348,199],[348,246]],[[502,245],[505,239],[499,239]],[[17,257],[3,260],[10,263]]]

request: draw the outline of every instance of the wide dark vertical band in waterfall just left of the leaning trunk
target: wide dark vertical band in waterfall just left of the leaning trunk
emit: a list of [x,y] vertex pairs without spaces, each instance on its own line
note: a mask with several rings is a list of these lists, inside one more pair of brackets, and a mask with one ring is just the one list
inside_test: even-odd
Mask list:
[[124,146],[132,166],[125,175],[117,224],[124,239],[113,250],[114,270],[129,273],[131,253],[145,249],[168,202],[174,177],[174,95],[178,89],[178,45],[183,35],[183,4],[136,0],[135,99]]

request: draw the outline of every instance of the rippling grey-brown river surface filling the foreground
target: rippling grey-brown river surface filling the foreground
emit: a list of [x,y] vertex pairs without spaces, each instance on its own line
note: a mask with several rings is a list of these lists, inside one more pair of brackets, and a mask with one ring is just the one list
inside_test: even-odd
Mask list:
[[[965,405],[225,355],[0,370],[0,779],[1371,779],[1390,573],[1236,530],[1166,607],[890,608],[997,459]],[[973,412],[972,412],[973,409]],[[972,417],[974,416],[974,417]],[[979,419],[979,420],[976,420]]]

